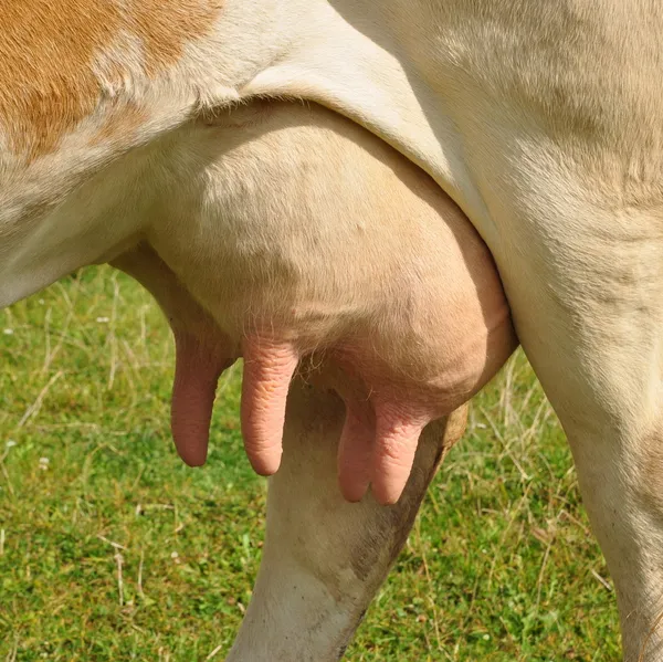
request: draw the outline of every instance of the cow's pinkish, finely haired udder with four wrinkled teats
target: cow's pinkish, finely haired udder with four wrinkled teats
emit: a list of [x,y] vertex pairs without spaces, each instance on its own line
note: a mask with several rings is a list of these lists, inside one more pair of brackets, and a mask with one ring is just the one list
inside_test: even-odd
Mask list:
[[114,261],[170,319],[178,452],[204,462],[217,379],[242,356],[246,452],[275,473],[308,357],[346,404],[343,494],[359,501],[371,484],[396,503],[424,425],[516,345],[490,253],[428,176],[328,111],[256,103],[186,132],[172,159],[204,164],[199,186],[166,199],[146,241]]

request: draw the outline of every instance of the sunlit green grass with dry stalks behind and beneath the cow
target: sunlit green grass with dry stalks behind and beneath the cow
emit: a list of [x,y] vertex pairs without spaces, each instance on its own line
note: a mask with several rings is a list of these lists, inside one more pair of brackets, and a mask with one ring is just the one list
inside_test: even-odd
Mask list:
[[[0,312],[0,661],[223,660],[265,483],[242,451],[236,369],[208,465],[177,459],[172,367],[156,306],[106,267]],[[475,399],[347,659],[618,660],[588,526],[518,355]]]

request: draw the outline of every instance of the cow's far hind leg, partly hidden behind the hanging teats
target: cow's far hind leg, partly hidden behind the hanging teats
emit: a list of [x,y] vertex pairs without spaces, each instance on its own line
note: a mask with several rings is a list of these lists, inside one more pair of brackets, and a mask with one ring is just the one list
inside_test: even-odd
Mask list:
[[228,662],[339,660],[412,527],[466,409],[431,423],[400,501],[347,503],[336,471],[345,406],[296,379],[283,462],[270,479],[266,538],[253,597]]

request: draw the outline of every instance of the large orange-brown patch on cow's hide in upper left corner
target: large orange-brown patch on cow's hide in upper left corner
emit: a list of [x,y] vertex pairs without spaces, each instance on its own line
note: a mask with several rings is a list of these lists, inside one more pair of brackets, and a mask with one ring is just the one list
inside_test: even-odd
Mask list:
[[[0,0],[0,123],[11,148],[29,159],[49,154],[94,112],[95,57],[123,34],[140,42],[154,78],[209,33],[220,9],[218,0]],[[125,73],[120,54],[112,77]]]

